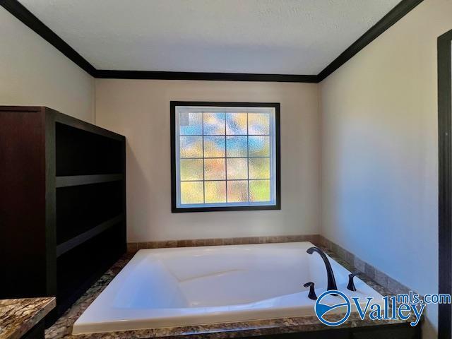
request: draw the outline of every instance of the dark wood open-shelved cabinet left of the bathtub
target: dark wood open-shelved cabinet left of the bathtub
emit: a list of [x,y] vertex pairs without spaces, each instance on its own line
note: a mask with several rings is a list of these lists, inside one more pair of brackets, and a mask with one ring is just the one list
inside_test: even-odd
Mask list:
[[0,106],[0,299],[58,316],[126,251],[125,138],[47,107]]

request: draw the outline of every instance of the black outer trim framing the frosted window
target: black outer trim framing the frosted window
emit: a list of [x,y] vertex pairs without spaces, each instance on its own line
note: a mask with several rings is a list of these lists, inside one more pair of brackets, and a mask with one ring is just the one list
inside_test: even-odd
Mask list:
[[[213,207],[177,207],[176,175],[176,107],[213,106],[213,107],[270,107],[275,109],[275,205],[268,206],[213,206]],[[209,101],[171,101],[171,210],[172,213],[214,212],[226,210],[280,210],[281,209],[281,160],[280,160],[280,103],[279,102],[209,102]]]

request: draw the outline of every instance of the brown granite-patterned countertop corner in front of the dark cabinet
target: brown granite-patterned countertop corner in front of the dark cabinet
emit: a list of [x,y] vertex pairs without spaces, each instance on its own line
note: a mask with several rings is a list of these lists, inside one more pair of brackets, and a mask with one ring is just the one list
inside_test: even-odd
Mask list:
[[56,305],[54,297],[0,300],[0,339],[18,339]]

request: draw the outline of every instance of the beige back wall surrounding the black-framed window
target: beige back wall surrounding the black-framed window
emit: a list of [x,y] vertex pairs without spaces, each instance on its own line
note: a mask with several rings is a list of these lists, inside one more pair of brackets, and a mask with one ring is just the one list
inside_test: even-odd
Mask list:
[[[280,102],[282,210],[171,213],[169,102]],[[96,80],[97,124],[127,137],[129,242],[319,232],[317,85]]]

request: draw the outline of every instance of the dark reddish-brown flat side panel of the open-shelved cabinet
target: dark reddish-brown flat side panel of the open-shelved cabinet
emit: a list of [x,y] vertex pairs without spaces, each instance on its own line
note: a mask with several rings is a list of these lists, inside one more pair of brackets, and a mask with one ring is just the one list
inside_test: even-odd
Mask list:
[[46,293],[43,112],[0,112],[0,299]]

